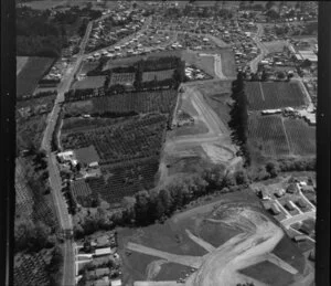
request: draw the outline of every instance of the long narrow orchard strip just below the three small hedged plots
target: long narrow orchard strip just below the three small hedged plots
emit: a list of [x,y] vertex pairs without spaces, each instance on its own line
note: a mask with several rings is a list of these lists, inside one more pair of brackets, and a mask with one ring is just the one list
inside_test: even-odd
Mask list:
[[177,100],[177,91],[156,91],[126,93],[113,96],[96,97],[85,102],[67,103],[65,114],[128,114],[128,113],[168,113],[171,114]]

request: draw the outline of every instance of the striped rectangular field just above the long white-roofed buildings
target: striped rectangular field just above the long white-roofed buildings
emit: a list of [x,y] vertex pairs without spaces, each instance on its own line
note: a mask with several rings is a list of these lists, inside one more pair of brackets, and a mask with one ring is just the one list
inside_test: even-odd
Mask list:
[[246,82],[245,89],[250,110],[305,105],[303,94],[297,83]]

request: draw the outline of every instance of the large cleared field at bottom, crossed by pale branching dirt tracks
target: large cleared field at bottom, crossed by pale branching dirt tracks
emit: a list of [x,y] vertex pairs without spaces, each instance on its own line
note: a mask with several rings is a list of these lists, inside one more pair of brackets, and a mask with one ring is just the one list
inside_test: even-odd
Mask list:
[[[277,246],[278,253],[286,253],[297,265],[305,265],[305,258],[296,256],[298,248],[293,243],[279,244],[284,233],[260,213],[256,197],[239,192],[220,198],[221,201],[205,202],[175,214],[164,224],[119,230],[124,284],[158,285],[152,280],[168,280],[167,285],[175,285],[177,279],[183,278],[185,285],[196,286],[249,280],[264,285],[267,275],[276,271],[286,273],[285,282],[297,279],[295,274],[301,269],[276,256],[273,250]],[[206,227],[206,222],[214,226]],[[269,262],[265,263],[267,267],[260,268],[265,261]],[[254,278],[241,275],[247,267],[259,275]]]

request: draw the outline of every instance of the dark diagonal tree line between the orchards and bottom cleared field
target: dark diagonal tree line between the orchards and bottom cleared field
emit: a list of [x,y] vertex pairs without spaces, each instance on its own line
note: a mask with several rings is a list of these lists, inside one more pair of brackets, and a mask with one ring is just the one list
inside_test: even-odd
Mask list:
[[115,213],[109,214],[98,206],[97,212],[89,213],[83,221],[75,223],[75,236],[82,239],[115,226],[134,227],[163,222],[201,197],[242,191],[249,183],[276,178],[280,172],[309,171],[314,168],[314,159],[269,161],[258,169],[241,169],[235,172],[226,171],[224,166],[212,166],[201,173],[177,178],[160,190],[142,190],[134,197],[126,197],[124,208]]

